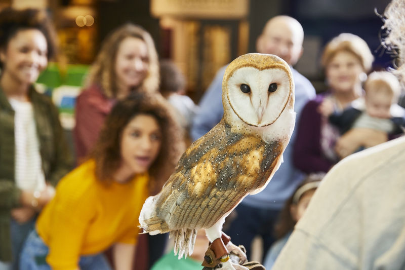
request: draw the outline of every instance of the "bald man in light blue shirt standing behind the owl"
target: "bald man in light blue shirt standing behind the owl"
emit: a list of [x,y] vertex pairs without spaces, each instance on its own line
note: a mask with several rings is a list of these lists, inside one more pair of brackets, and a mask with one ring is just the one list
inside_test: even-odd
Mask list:
[[[270,19],[256,41],[259,53],[275,54],[284,59],[290,66],[297,63],[302,55],[304,30],[301,24],[289,16],[276,16]],[[211,130],[222,118],[222,78],[226,66],[222,67],[215,76],[209,89],[199,103],[200,111],[193,120],[191,137],[193,140]],[[309,99],[315,97],[312,84],[297,70],[292,68],[295,83],[296,123],[299,114]],[[284,163],[274,174],[267,187],[257,195],[246,197],[234,210],[236,218],[228,220],[229,229],[226,234],[236,245],[244,245],[248,259],[251,259],[252,240],[260,235],[263,239],[263,254],[267,253],[274,242],[273,225],[284,202],[300,183],[303,175],[293,167],[292,149],[294,133],[290,144],[284,152]],[[231,215],[232,216],[232,215]]]

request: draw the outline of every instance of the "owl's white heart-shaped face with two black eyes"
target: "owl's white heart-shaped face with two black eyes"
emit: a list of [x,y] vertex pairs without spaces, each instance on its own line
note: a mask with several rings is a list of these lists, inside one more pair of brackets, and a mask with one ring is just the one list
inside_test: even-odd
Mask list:
[[225,85],[229,105],[251,126],[274,123],[287,106],[292,92],[291,75],[282,68],[258,69],[252,66],[235,70]]

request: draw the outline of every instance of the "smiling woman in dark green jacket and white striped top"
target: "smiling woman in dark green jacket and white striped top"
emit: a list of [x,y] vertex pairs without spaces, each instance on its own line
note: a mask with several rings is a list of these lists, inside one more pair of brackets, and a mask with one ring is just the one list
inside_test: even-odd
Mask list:
[[55,56],[46,13],[0,12],[0,269],[17,269],[36,215],[72,168],[58,109],[34,87]]

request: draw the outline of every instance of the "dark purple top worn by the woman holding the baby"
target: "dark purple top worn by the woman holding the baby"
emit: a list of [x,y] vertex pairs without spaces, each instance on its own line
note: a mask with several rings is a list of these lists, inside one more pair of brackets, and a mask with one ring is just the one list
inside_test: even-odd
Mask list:
[[[301,118],[298,123],[293,162],[299,170],[307,174],[328,172],[338,161],[330,157],[331,153],[327,153],[324,150],[325,145],[329,144],[329,150],[333,151],[336,138],[334,138],[334,132],[330,129],[331,125],[317,111],[319,104],[327,96],[317,95],[315,99],[308,101],[301,112]],[[327,133],[330,135],[326,135]],[[324,145],[323,147],[322,144]]]

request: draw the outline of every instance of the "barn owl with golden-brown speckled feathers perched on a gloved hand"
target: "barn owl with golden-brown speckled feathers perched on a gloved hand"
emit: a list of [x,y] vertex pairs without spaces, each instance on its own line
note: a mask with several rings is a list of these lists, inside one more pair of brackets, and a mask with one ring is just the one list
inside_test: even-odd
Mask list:
[[[219,124],[188,147],[139,216],[144,233],[170,232],[179,258],[192,253],[200,228],[210,242],[220,238],[225,217],[280,166],[295,124],[290,66],[268,54],[236,58],[225,70],[222,104]],[[223,268],[234,269],[230,261]]]

